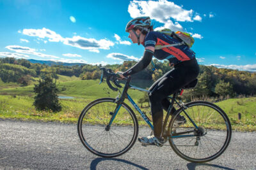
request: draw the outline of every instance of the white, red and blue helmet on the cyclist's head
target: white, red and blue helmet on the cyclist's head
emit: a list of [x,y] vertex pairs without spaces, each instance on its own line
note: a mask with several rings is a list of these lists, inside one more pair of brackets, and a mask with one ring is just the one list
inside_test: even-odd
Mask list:
[[125,31],[129,32],[130,29],[143,29],[150,27],[151,20],[150,17],[138,17],[130,20],[125,27]]

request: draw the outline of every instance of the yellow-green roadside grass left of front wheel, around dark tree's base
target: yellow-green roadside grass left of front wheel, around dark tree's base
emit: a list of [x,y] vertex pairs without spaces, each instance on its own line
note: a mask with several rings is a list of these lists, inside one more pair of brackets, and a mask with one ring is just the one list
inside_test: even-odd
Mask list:
[[62,110],[52,113],[51,110],[36,110],[33,106],[33,97],[0,96],[0,117],[46,122],[77,122],[77,118],[89,101],[86,99],[60,99],[60,103]]

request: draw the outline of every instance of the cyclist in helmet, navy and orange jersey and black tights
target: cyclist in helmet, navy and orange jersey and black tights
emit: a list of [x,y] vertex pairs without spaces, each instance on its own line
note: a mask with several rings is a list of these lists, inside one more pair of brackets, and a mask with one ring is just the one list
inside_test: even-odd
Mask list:
[[[142,59],[130,69],[117,72],[121,78],[131,74],[138,73],[150,64],[152,57],[159,60],[168,59],[173,69],[170,69],[161,78],[159,78],[149,88],[149,101],[154,125],[154,135],[148,137],[139,137],[138,141],[145,145],[162,146],[164,139],[163,132],[163,109],[168,110],[170,101],[166,98],[177,92],[180,88],[195,80],[199,73],[199,66],[195,58],[195,53],[187,45],[179,45],[155,49],[156,45],[170,45],[180,43],[180,40],[167,36],[161,32],[153,31],[150,17],[138,17],[132,19],[125,28],[129,32],[129,38],[133,43],[145,46],[145,52]],[[175,111],[173,108],[172,113]],[[177,117],[175,125],[179,126],[186,123],[182,116]]]

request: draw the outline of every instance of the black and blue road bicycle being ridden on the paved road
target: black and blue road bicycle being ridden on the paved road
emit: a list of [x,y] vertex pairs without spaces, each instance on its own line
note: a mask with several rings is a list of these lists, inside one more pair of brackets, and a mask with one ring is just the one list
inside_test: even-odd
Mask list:
[[[100,83],[106,78],[108,87],[117,91],[121,87],[117,74],[111,69],[101,68]],[[115,87],[110,83],[113,82]],[[83,145],[100,157],[118,157],[134,145],[138,137],[138,120],[125,98],[134,106],[148,126],[154,130],[150,119],[127,94],[128,89],[149,92],[130,85],[131,77],[126,79],[122,95],[115,98],[102,98],[88,104],[79,116],[77,131]],[[163,124],[164,141],[169,141],[173,151],[189,162],[208,162],[219,157],[227,148],[231,139],[231,125],[226,113],[215,104],[206,101],[193,101],[184,104],[177,101],[183,89],[196,86],[197,80],[175,92],[168,98],[171,101]],[[120,90],[119,90],[120,91]],[[179,108],[169,117],[173,105]],[[186,124],[175,127],[175,118],[182,115]],[[168,126],[166,127],[166,125]]]

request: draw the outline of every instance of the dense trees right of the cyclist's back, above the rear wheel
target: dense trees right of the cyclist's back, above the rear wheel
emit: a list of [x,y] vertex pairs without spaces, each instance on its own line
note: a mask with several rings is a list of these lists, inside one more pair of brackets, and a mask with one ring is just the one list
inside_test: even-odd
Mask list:
[[237,97],[255,96],[256,73],[234,69],[218,69],[214,66],[200,66],[198,85],[186,90],[185,99],[193,97]]

